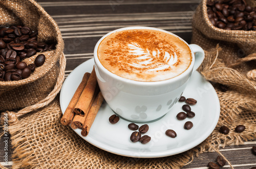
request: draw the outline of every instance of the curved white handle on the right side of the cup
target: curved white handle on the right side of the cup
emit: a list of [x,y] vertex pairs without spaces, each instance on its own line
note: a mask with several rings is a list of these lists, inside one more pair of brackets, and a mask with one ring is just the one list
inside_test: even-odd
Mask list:
[[203,63],[204,61],[204,50],[196,45],[196,44],[190,44],[190,48],[192,49],[192,52],[195,53],[195,64],[193,68],[193,72],[199,68],[199,66]]

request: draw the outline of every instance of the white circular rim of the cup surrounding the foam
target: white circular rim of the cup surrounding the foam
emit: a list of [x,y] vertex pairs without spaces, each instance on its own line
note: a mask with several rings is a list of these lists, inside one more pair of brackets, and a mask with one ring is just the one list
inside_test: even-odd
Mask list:
[[[109,71],[108,69],[106,69],[100,63],[99,58],[98,58],[98,47],[99,47],[99,44],[101,43],[101,41],[103,39],[105,39],[107,36],[109,36],[109,35],[111,35],[113,33],[116,33],[116,32],[125,31],[125,30],[138,30],[138,29],[160,31],[160,32],[164,32],[164,33],[167,33],[167,34],[170,34],[172,36],[175,36],[175,37],[179,38],[182,42],[184,42],[189,47],[190,52],[191,52],[192,61],[191,61],[190,65],[188,66],[188,68],[184,72],[182,72],[181,74],[179,74],[179,75],[177,75],[175,77],[172,77],[172,78],[169,78],[169,79],[165,79],[165,80],[159,80],[159,81],[138,81],[138,80],[132,80],[132,79],[128,79],[128,78],[124,78],[124,77],[121,77],[119,75],[116,75],[116,74],[112,73],[111,71]],[[93,55],[94,55],[94,57],[93,57],[94,58],[94,63],[96,65],[95,69],[97,69],[97,67],[99,67],[101,70],[104,71],[104,73],[106,73],[109,76],[111,76],[111,77],[113,77],[113,78],[115,78],[117,80],[120,80],[122,82],[132,83],[133,85],[144,85],[144,86],[166,85],[168,83],[172,83],[172,82],[178,81],[178,80],[182,79],[184,76],[186,76],[187,74],[189,74],[190,72],[192,72],[194,64],[195,64],[195,54],[194,54],[193,50],[191,49],[191,47],[189,46],[189,44],[186,41],[184,41],[179,36],[177,36],[177,35],[175,35],[173,33],[170,33],[168,31],[161,30],[161,29],[158,29],[156,27],[147,27],[147,26],[122,27],[120,29],[117,29],[117,30],[109,32],[108,34],[106,34],[103,37],[101,37],[99,39],[99,41],[96,43]]]

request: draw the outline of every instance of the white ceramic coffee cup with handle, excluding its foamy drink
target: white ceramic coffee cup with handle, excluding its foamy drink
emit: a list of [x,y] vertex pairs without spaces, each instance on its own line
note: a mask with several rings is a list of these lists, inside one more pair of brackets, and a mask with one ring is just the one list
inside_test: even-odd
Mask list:
[[166,80],[148,82],[123,78],[101,65],[97,51],[100,42],[106,36],[118,31],[133,29],[156,30],[178,37],[164,30],[144,26],[124,27],[112,31],[103,36],[94,48],[95,71],[105,101],[118,116],[133,122],[150,122],[163,117],[177,103],[191,74],[203,62],[204,50],[196,44],[188,45],[178,37],[189,47],[192,53],[191,64],[182,74]]

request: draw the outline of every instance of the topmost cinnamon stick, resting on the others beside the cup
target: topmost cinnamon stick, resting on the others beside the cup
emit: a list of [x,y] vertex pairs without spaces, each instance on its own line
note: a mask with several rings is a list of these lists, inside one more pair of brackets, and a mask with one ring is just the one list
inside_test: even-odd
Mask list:
[[74,112],[80,116],[86,116],[86,112],[90,109],[90,103],[93,98],[95,88],[97,84],[96,73],[93,67],[93,71],[88,79],[86,87],[83,89],[81,96],[79,97]]

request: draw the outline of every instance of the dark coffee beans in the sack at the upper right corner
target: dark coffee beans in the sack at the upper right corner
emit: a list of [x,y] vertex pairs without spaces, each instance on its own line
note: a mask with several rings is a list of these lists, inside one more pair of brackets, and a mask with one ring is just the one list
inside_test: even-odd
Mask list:
[[224,30],[256,31],[256,8],[244,0],[208,0],[210,22]]

